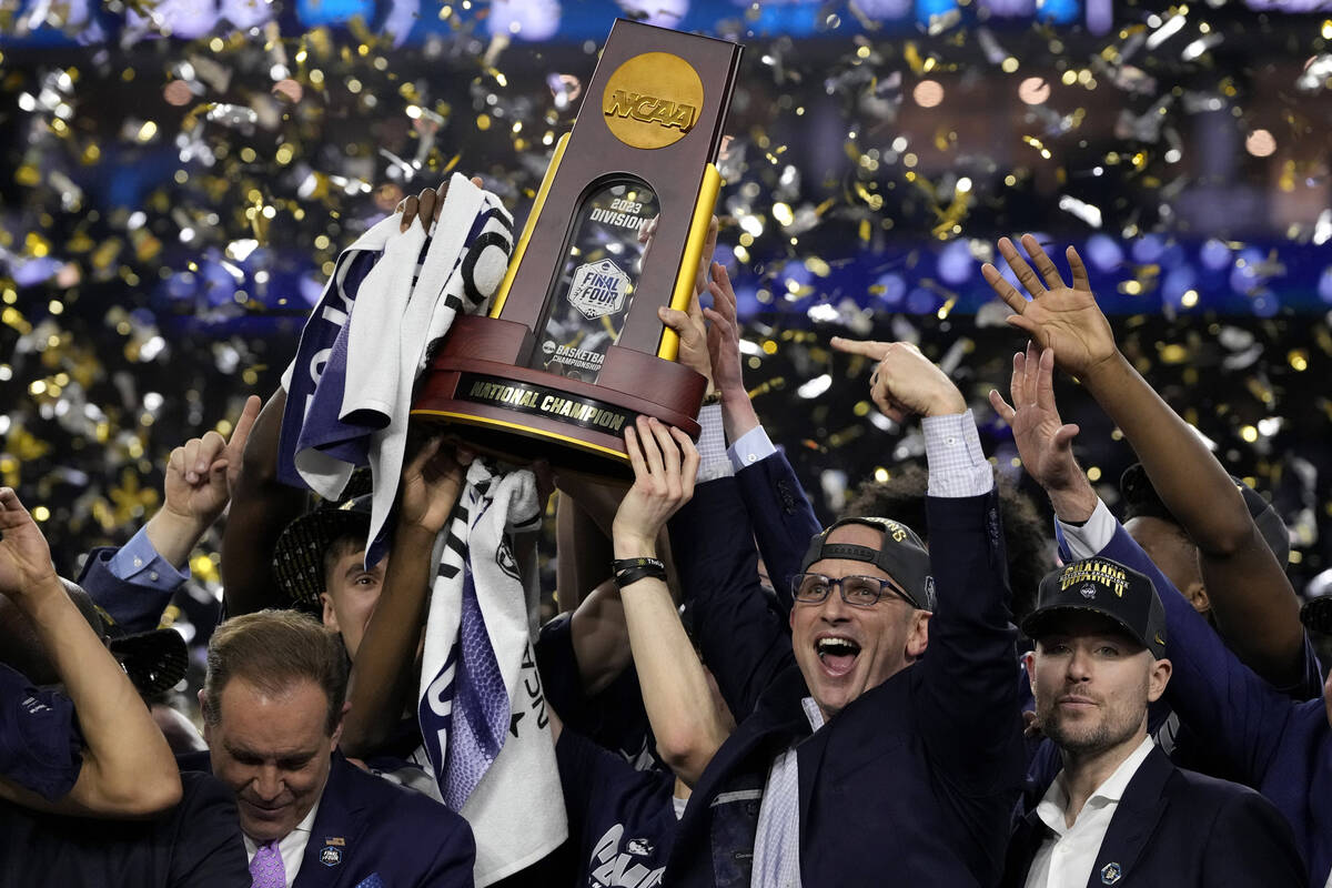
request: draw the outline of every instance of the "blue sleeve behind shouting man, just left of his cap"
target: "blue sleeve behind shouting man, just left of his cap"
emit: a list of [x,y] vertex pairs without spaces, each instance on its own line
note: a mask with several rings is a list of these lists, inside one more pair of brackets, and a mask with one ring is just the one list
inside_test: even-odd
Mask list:
[[782,451],[745,466],[735,479],[777,600],[790,612],[791,576],[799,572],[810,539],[823,527]]

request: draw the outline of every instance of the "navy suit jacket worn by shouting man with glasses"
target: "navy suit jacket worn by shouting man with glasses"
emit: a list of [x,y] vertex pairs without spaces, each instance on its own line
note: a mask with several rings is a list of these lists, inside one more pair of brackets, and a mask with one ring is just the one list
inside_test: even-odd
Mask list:
[[695,638],[742,720],[694,787],[663,884],[749,885],[767,771],[793,743],[806,885],[995,884],[1026,762],[996,497],[928,501],[939,607],[924,658],[810,735],[738,485],[699,485],[671,522]]

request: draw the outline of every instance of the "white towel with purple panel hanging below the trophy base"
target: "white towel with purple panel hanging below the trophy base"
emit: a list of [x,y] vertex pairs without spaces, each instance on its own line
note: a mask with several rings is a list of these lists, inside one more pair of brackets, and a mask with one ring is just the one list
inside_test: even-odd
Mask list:
[[569,835],[513,534],[541,521],[527,470],[468,471],[430,598],[417,715],[440,796],[472,824],[476,883]]

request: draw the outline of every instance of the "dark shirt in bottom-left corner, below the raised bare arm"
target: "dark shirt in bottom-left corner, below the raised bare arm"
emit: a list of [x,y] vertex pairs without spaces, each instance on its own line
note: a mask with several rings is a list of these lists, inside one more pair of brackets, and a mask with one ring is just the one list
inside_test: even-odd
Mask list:
[[149,820],[37,813],[0,801],[0,888],[249,888],[236,799],[185,771],[180,803]]

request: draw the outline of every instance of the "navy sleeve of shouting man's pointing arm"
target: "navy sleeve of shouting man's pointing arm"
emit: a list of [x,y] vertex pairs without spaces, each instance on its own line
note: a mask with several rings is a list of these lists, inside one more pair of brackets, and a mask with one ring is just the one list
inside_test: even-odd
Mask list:
[[1016,792],[1027,751],[999,497],[927,497],[938,596],[918,711],[935,762],[970,793]]

